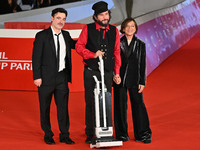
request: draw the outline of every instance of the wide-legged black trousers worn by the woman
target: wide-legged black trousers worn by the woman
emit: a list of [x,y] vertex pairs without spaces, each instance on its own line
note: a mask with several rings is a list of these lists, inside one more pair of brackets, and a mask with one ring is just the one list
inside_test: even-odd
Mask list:
[[138,88],[114,87],[114,123],[116,137],[128,136],[127,125],[127,90],[129,91],[135,139],[151,134],[149,118],[143,101],[143,94]]

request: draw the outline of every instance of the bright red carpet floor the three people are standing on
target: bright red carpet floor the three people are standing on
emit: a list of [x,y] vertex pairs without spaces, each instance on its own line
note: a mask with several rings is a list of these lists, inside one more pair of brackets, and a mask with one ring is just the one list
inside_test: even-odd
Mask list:
[[[128,110],[130,141],[109,149],[200,149],[200,32],[170,56],[147,79],[145,104],[152,143],[136,143]],[[84,135],[84,93],[70,93],[70,133],[75,145],[59,142],[54,102],[51,123],[56,145],[43,142],[37,92],[0,91],[0,150],[89,149]],[[130,106],[130,104],[129,104]]]

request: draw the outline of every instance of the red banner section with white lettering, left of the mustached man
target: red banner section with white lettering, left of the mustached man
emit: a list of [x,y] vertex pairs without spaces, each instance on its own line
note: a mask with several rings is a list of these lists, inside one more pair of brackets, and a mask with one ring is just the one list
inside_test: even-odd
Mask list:
[[0,38],[0,90],[37,90],[32,73],[33,41]]

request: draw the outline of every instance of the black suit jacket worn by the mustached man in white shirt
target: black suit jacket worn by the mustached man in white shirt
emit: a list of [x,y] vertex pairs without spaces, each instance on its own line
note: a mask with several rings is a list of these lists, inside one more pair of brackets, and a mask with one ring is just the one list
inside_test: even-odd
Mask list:
[[[75,48],[75,41],[68,31],[62,30],[66,44],[66,58],[64,72],[66,82],[71,82],[71,48]],[[42,79],[43,85],[55,83],[57,73],[56,48],[51,27],[36,34],[33,44],[32,66],[33,79]]]

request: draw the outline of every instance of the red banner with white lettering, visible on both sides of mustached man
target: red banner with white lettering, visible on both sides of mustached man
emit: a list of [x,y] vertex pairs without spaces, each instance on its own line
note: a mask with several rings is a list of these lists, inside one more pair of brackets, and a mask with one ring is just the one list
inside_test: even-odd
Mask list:
[[[0,89],[37,90],[33,84],[32,48],[34,39],[0,38]],[[82,58],[72,50],[70,91],[83,91]]]

